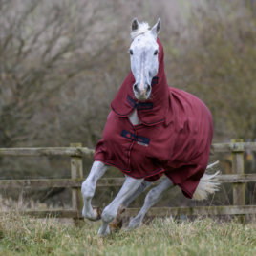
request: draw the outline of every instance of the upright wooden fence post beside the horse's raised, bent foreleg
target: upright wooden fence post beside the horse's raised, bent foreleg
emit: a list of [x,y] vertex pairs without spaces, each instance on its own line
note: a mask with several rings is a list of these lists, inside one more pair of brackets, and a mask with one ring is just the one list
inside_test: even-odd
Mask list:
[[[71,147],[82,147],[81,143],[71,143]],[[83,178],[83,160],[82,157],[71,156],[71,179]],[[72,188],[72,208],[77,213],[82,211],[83,198],[81,188]],[[78,214],[77,214],[78,215]]]

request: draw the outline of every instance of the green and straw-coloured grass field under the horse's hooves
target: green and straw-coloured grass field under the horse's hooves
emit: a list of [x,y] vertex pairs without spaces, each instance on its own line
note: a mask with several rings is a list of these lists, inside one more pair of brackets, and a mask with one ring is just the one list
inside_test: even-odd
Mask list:
[[97,237],[100,223],[65,226],[1,215],[0,255],[256,255],[256,224],[155,219],[138,230]]

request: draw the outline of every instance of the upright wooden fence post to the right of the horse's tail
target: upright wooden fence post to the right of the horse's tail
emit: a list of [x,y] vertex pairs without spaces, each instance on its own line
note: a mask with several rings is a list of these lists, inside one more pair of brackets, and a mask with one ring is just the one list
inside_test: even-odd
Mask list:
[[[243,142],[243,139],[231,139],[231,143]],[[245,174],[244,150],[232,151],[232,172],[233,174]],[[233,183],[233,205],[245,205],[245,183]],[[245,216],[240,217],[245,224]]]

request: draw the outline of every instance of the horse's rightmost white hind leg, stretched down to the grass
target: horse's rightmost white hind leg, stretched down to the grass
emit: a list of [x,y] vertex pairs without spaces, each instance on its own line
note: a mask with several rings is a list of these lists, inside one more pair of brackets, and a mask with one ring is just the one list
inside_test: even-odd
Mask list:
[[174,185],[172,181],[170,181],[170,179],[166,177],[163,181],[161,181],[161,183],[157,187],[151,189],[145,198],[145,203],[143,207],[140,209],[139,214],[131,221],[131,223],[128,226],[128,229],[138,228],[148,209],[160,201],[163,193],[167,189],[173,187]]

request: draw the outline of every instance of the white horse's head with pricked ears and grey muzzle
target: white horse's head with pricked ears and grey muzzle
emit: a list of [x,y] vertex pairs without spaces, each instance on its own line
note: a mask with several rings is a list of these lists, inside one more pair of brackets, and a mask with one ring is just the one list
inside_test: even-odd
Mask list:
[[137,19],[133,20],[131,26],[134,40],[128,53],[131,55],[131,69],[135,77],[133,90],[139,100],[150,96],[152,78],[159,71],[157,34],[160,32],[160,19],[151,31],[148,28],[147,23],[139,23]]

